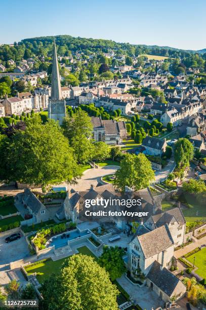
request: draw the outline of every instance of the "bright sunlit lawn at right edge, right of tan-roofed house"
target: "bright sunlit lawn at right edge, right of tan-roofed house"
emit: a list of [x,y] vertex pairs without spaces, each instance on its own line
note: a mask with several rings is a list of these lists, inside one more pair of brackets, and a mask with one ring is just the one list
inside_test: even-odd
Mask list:
[[199,252],[190,255],[187,257],[187,260],[189,260],[192,264],[194,262],[195,266],[198,267],[198,269],[195,270],[195,273],[203,279],[206,279],[206,248],[203,248]]

